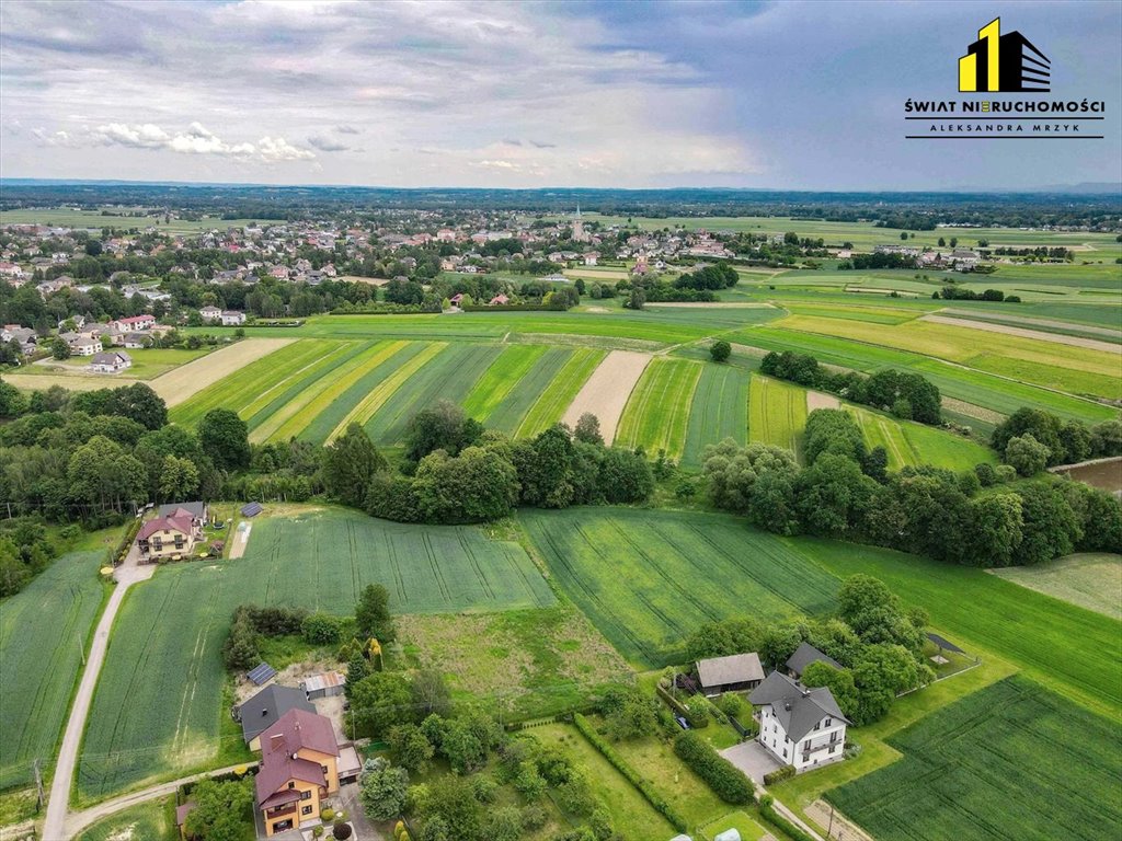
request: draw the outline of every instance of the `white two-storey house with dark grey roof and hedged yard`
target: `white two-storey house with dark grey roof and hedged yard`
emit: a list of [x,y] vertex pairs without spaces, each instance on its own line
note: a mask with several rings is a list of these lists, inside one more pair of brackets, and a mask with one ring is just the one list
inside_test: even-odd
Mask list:
[[783,765],[803,771],[843,758],[850,722],[826,686],[808,690],[772,672],[748,701],[761,708],[756,739]]

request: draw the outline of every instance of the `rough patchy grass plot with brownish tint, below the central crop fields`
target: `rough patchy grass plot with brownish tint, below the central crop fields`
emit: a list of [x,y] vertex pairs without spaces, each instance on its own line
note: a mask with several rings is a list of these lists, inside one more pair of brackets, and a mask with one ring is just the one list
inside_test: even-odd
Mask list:
[[568,604],[402,616],[397,636],[407,665],[441,672],[453,700],[482,703],[504,719],[585,706],[631,676],[619,654]]

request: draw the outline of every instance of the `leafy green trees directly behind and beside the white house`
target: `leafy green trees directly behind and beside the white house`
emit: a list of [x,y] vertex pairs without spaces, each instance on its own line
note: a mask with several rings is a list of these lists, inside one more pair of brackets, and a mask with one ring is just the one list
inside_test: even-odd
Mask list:
[[838,613],[829,619],[764,623],[745,617],[701,626],[687,640],[690,659],[757,651],[770,668],[783,669],[802,643],[837,660],[842,668],[813,663],[806,686],[828,686],[842,712],[855,724],[885,714],[895,696],[934,680],[923,658],[922,610],[905,610],[881,581],[853,575],[838,590]]

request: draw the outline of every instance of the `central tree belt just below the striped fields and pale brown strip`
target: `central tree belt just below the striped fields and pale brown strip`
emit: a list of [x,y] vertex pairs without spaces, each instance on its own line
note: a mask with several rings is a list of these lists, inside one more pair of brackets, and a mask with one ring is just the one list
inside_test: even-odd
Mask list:
[[410,422],[401,470],[352,425],[325,449],[323,481],[339,501],[401,523],[478,523],[517,505],[637,502],[654,488],[643,454],[605,446],[592,415],[574,431],[557,425],[511,441],[447,401]]

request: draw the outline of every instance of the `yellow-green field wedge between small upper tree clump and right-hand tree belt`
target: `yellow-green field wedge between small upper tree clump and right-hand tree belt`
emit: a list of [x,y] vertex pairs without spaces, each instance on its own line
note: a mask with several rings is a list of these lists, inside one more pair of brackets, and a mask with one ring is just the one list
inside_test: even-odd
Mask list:
[[996,461],[996,454],[992,450],[953,432],[898,420],[855,406],[846,408],[857,418],[868,449],[884,447],[889,454],[890,470],[899,470],[909,464],[972,470],[975,464],[992,464]]

